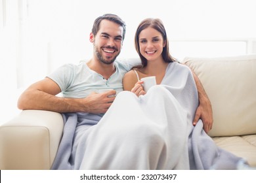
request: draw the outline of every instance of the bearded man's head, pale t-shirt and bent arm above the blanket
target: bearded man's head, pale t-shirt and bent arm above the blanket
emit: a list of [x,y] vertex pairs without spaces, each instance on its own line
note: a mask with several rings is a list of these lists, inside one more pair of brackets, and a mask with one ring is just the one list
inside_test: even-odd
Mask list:
[[[18,108],[55,112],[89,112],[102,114],[108,110],[116,92],[123,90],[123,75],[131,63],[116,61],[125,37],[125,23],[114,14],[96,18],[90,41],[93,58],[79,65],[66,64],[43,80],[32,84],[18,100]],[[102,89],[107,93],[96,93]],[[64,97],[56,97],[62,92]],[[35,102],[36,101],[36,102]]]

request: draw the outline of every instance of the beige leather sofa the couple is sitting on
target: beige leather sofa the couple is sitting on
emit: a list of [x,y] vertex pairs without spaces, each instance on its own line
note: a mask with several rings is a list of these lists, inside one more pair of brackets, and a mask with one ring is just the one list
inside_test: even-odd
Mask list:
[[[213,107],[209,135],[256,167],[256,55],[185,58]],[[0,126],[0,169],[50,169],[62,136],[57,112],[24,110]]]

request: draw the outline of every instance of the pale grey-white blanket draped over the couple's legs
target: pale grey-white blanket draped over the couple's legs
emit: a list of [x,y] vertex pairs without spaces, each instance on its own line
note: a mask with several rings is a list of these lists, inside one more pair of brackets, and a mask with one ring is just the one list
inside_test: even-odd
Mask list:
[[192,73],[170,63],[161,85],[140,97],[119,93],[102,118],[63,114],[64,136],[52,168],[236,169],[244,159],[218,148],[201,120],[192,125],[197,107]]

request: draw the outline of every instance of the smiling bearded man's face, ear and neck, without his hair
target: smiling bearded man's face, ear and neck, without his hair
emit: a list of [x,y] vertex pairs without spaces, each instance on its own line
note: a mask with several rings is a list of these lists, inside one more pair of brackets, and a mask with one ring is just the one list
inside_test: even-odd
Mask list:
[[94,53],[87,65],[108,80],[116,71],[113,63],[123,44],[123,27],[110,20],[102,20],[98,31],[90,34],[90,41],[93,42]]

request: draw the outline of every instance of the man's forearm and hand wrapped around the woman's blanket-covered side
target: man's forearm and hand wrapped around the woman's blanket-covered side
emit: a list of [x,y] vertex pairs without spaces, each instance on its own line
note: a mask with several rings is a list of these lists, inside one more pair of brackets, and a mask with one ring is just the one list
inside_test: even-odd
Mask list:
[[199,106],[196,110],[193,125],[196,125],[199,119],[203,121],[203,129],[208,133],[213,126],[213,110],[211,108],[211,101],[209,100],[205,90],[203,89],[202,83],[198,76],[192,71],[196,87],[198,88]]

